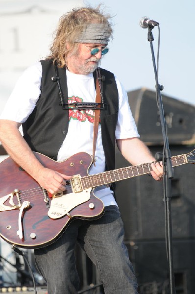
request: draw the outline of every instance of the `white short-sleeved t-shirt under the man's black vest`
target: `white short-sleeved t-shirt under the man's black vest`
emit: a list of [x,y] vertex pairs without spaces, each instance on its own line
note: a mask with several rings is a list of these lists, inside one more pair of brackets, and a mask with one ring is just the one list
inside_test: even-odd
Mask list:
[[[93,74],[82,75],[71,73],[69,71],[66,73],[69,103],[74,101],[95,102],[96,90]],[[24,71],[10,95],[5,108],[0,115],[0,119],[11,120],[17,123],[24,123],[26,121],[39,98],[41,92],[41,77],[42,65],[40,62],[35,63]],[[115,132],[116,139],[139,137],[129,107],[127,93],[116,76],[115,79],[119,92],[119,117]],[[62,82],[63,81],[61,80],[61,83]],[[93,153],[94,111],[70,110],[69,118],[69,131],[59,149],[58,161],[63,161],[78,152],[87,152],[91,155]],[[96,166],[92,165],[89,174],[105,171],[105,155],[101,142],[100,124],[98,126],[95,157],[97,160]],[[105,206],[112,204],[117,205],[113,192],[108,187],[97,187],[94,194],[103,201]]]

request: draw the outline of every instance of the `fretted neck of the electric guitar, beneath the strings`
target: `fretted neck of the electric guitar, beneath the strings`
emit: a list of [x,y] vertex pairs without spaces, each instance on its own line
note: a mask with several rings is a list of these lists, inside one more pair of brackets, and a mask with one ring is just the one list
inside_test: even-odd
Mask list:
[[[176,167],[188,163],[186,154],[171,157],[172,166]],[[155,162],[157,163],[157,162]],[[125,180],[134,176],[146,174],[152,171],[151,163],[129,166],[108,172],[101,172],[81,178],[83,189],[94,188],[117,181]]]

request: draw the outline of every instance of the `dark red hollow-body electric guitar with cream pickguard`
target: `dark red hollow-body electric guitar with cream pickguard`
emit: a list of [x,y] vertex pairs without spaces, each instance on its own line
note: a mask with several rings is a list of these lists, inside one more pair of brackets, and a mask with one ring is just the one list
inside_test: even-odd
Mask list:
[[[11,157],[0,163],[0,236],[10,244],[39,248],[53,243],[76,219],[93,220],[104,213],[104,205],[93,188],[151,172],[151,163],[88,175],[92,157],[77,153],[63,162],[34,152],[47,168],[72,175],[66,191],[56,196],[39,184]],[[195,163],[195,149],[171,157],[172,166]]]

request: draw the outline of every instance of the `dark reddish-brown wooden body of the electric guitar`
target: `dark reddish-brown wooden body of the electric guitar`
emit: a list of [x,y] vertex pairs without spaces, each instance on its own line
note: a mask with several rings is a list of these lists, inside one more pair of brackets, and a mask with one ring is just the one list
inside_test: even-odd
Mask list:
[[[88,175],[87,172],[92,163],[92,157],[85,152],[77,153],[63,162],[53,161],[40,153],[35,152],[35,155],[49,169],[67,175],[80,174],[81,177]],[[74,207],[69,212],[69,216],[65,214],[61,218],[51,219],[48,216],[49,208],[44,201],[43,190],[11,157],[0,164],[0,181],[0,236],[8,243],[19,247],[44,247],[58,239],[74,219],[93,220],[100,218],[104,213],[102,201],[94,196],[93,191],[91,191],[89,192],[90,199]],[[4,207],[10,207],[10,197],[4,201],[5,196],[10,195],[15,189],[19,189],[20,192],[23,191],[23,200],[30,202],[30,206],[23,211],[21,221],[19,219],[19,208],[3,211]],[[74,194],[71,196],[74,196]],[[49,198],[49,206],[51,201]],[[13,202],[18,204],[15,194]],[[94,204],[94,208],[89,207],[90,203]],[[23,231],[22,239],[17,234],[20,222]]]

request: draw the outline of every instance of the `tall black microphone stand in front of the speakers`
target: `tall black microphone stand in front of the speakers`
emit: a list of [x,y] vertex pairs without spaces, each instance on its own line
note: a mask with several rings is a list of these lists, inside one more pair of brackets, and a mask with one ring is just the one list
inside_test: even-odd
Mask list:
[[163,133],[163,141],[164,141],[164,152],[163,152],[163,164],[164,164],[164,201],[165,201],[165,215],[166,215],[166,239],[167,239],[167,254],[168,254],[168,262],[169,262],[169,279],[170,279],[170,293],[175,294],[175,286],[174,286],[174,270],[173,270],[173,251],[172,251],[172,228],[171,228],[171,178],[173,178],[173,170],[171,164],[171,152],[169,149],[169,143],[166,132],[166,122],[165,115],[163,110],[163,103],[161,92],[163,90],[163,86],[159,85],[158,82],[158,74],[156,70],[155,57],[154,57],[154,49],[152,41],[154,41],[152,35],[153,26],[148,27],[148,35],[147,40],[150,42],[150,48],[152,53],[152,61],[154,67],[154,74],[156,80],[156,97],[157,97],[157,106],[160,112],[160,121],[162,126]]

